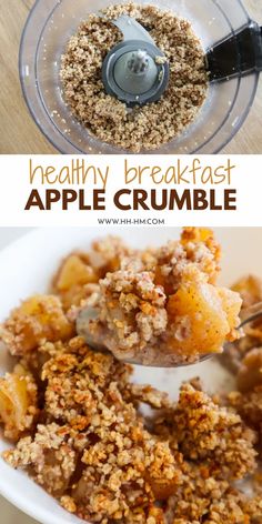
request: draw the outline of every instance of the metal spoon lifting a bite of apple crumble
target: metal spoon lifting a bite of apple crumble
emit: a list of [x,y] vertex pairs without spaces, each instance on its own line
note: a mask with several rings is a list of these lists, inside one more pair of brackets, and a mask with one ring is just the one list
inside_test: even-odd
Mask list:
[[[98,310],[94,308],[83,309],[77,318],[77,332],[79,335],[83,336],[88,345],[93,351],[111,353],[108,347],[103,345],[103,341],[97,341],[93,339],[91,333],[88,331],[88,324],[90,320],[95,320],[98,318]],[[254,322],[259,319],[262,319],[262,302],[252,305],[251,308],[243,310],[241,313],[241,324],[238,326],[238,330],[241,330],[244,325]],[[229,344],[225,344],[225,350]],[[178,354],[175,353],[163,353],[158,349],[147,347],[143,351],[139,351],[135,354],[135,359],[127,357],[127,353],[123,351],[121,355],[117,355],[118,360],[121,360],[129,364],[145,365],[152,367],[183,367],[187,365],[198,364],[203,362],[211,356],[214,356],[218,353],[209,353],[201,355],[200,359],[195,361],[181,361],[178,360]]]

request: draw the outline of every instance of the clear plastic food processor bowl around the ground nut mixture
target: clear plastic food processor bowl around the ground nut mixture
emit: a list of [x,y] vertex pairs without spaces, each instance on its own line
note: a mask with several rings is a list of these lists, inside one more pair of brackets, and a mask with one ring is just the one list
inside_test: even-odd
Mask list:
[[[191,21],[208,52],[251,24],[240,0],[139,0],[170,9]],[[130,153],[92,137],[70,112],[62,95],[60,61],[81,20],[112,3],[109,0],[37,0],[26,23],[19,57],[22,91],[28,108],[48,140],[62,153]],[[236,46],[239,46],[236,41]],[[238,50],[241,54],[242,49]],[[151,154],[218,153],[243,124],[253,103],[259,68],[236,71],[226,81],[210,82],[206,100],[194,122],[177,139]]]

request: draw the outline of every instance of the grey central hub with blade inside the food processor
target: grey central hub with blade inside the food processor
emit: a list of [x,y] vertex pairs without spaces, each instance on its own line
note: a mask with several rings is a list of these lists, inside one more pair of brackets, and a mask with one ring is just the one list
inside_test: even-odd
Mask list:
[[102,66],[107,93],[128,107],[155,102],[169,82],[169,64],[149,32],[133,18],[123,14],[112,23],[123,41],[113,47]]

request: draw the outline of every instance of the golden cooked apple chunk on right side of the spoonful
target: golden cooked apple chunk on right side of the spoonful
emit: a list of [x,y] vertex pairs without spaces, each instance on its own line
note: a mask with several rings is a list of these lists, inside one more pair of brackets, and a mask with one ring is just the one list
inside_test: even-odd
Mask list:
[[225,341],[235,340],[241,299],[238,293],[204,281],[187,281],[168,299],[167,345],[189,357],[220,353]]

